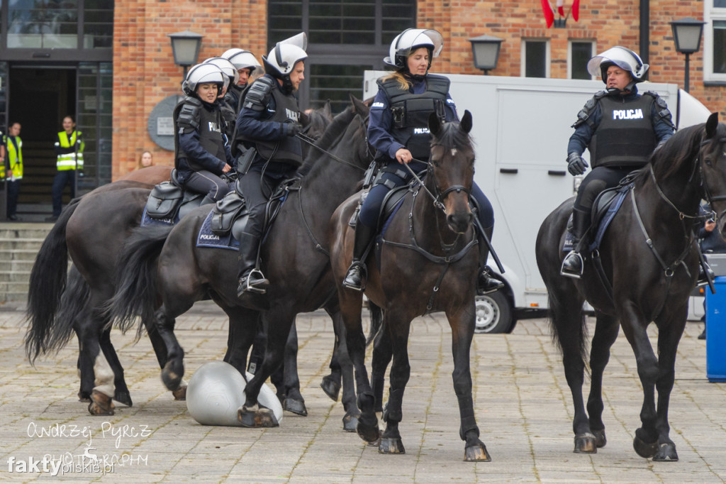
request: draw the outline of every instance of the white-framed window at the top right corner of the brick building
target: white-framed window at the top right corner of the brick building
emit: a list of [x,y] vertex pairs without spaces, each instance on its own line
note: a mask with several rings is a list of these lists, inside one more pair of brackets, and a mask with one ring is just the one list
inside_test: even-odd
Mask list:
[[726,82],[726,0],[703,2],[703,80]]

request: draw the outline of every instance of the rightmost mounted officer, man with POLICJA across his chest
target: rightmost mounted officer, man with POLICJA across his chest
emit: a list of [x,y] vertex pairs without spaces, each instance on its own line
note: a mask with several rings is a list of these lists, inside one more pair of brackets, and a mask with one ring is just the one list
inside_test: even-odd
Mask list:
[[567,145],[567,169],[581,175],[587,168],[582,158],[590,150],[592,171],[577,190],[572,214],[574,249],[560,273],[582,275],[580,246],[590,228],[590,211],[597,195],[618,185],[629,172],[643,168],[653,150],[672,137],[674,126],[666,102],[655,92],[638,94],[636,84],[645,80],[648,64],[630,49],[613,47],[587,62],[592,76],[600,74],[606,89],[587,101],[572,126]]

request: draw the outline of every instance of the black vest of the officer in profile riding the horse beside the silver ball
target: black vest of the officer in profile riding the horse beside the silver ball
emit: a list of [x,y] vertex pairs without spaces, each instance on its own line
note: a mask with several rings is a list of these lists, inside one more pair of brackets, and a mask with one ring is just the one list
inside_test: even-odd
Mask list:
[[[279,86],[272,88],[270,92],[274,98],[275,108],[274,116],[265,121],[277,121],[285,123],[292,121],[300,122],[300,108],[298,108],[298,100],[292,93],[285,95]],[[297,137],[286,136],[282,140],[259,141],[248,140],[254,142],[257,152],[266,160],[272,158],[277,163],[285,163],[293,166],[300,166],[303,163],[303,145]]]

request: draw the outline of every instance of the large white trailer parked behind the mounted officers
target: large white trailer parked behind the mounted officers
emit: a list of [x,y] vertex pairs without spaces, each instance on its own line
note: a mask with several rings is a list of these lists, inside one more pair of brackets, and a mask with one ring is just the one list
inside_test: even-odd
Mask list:
[[[368,70],[363,98],[378,92],[375,79],[384,71]],[[508,332],[518,319],[541,317],[547,289],[537,270],[534,242],[539,225],[566,198],[576,193],[582,177],[567,172],[567,142],[576,115],[602,81],[464,76],[444,74],[459,115],[473,116],[476,143],[474,180],[494,206],[493,245],[505,268],[507,287],[477,298],[477,331]],[[640,92],[663,97],[680,127],[705,122],[701,102],[676,84],[639,84]],[[590,154],[584,158],[589,162]],[[495,268],[490,258],[490,267]],[[701,304],[691,307],[701,311]]]

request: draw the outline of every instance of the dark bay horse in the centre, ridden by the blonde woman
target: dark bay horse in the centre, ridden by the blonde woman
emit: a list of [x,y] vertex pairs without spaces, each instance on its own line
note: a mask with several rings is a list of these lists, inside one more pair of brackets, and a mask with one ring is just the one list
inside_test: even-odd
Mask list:
[[[367,259],[365,294],[383,309],[384,338],[393,354],[383,435],[379,435],[374,395],[364,366],[362,294],[342,286],[354,241],[348,221],[358,194],[340,205],[330,224],[330,259],[361,411],[357,430],[369,443],[380,437],[381,453],[404,453],[398,427],[411,370],[407,350],[411,321],[428,312],[444,311],[452,328],[454,391],[461,416],[460,437],[466,442],[465,460],[489,461],[478,438],[469,366],[478,267],[474,215],[469,206],[474,175],[474,150],[468,134],[471,115],[466,111],[460,123],[441,124],[432,114],[428,125],[433,140],[424,185],[410,189],[399,211],[388,221],[380,250],[372,251]],[[375,358],[374,352],[374,367],[380,364]]]

